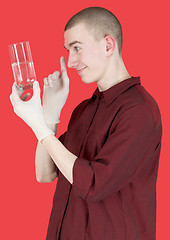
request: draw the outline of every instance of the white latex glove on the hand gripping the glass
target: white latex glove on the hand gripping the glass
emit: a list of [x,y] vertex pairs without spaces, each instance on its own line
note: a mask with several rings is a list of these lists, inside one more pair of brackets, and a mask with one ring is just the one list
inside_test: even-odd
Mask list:
[[54,134],[47,124],[43,116],[43,108],[40,99],[40,88],[37,81],[33,83],[33,96],[29,101],[23,101],[19,97],[16,83],[12,86],[12,94],[10,100],[14,108],[14,112],[22,118],[26,124],[32,128],[39,141],[50,134]]

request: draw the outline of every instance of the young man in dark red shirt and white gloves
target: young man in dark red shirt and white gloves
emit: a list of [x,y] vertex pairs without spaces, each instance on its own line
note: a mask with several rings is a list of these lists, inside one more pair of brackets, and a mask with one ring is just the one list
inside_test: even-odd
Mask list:
[[155,100],[131,77],[121,57],[122,29],[108,10],[91,7],[65,27],[68,67],[84,83],[97,83],[72,113],[67,131],[54,136],[68,92],[61,74],[38,83],[28,102],[13,85],[14,111],[39,139],[39,182],[58,177],[47,240],[155,240],[156,180],[162,125]]

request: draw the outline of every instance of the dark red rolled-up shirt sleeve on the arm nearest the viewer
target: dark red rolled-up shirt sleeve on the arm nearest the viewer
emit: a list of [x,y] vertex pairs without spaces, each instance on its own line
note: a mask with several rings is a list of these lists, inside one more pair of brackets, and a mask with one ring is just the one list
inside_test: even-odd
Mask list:
[[76,159],[74,193],[86,201],[99,201],[123,188],[151,159],[153,137],[151,110],[144,104],[126,110],[92,161]]

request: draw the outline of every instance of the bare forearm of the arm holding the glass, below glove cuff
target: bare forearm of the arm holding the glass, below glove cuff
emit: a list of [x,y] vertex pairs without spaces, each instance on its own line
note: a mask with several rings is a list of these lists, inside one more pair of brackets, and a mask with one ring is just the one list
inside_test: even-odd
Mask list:
[[77,156],[68,151],[54,135],[45,137],[41,142],[48,151],[56,166],[65,176],[65,178],[67,178],[67,180],[72,184],[73,165],[77,159]]

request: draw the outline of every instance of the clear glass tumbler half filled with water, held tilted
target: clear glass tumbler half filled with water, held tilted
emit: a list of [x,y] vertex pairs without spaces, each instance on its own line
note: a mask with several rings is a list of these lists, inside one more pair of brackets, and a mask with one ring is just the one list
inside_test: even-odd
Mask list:
[[29,42],[9,45],[9,54],[16,84],[22,90],[31,89],[36,75]]

